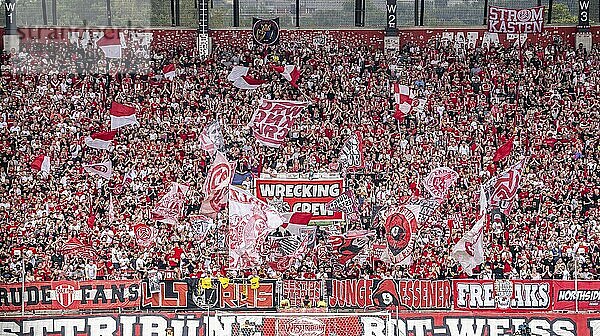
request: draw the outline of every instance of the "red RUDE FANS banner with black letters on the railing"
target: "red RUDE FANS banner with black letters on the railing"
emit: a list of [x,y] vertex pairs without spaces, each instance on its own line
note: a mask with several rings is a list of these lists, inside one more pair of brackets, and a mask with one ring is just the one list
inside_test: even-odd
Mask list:
[[118,309],[140,305],[138,281],[28,282],[25,295],[21,283],[0,286],[0,311]]

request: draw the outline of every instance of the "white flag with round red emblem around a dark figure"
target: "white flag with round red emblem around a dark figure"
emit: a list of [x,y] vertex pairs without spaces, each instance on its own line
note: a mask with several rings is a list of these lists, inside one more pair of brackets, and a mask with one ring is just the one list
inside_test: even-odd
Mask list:
[[389,262],[412,264],[420,212],[421,208],[416,205],[392,206],[380,211],[388,246],[385,259]]

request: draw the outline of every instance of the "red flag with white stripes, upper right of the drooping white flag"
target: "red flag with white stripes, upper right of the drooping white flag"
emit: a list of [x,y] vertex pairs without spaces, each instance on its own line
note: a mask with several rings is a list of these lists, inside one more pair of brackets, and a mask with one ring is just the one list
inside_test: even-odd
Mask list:
[[489,197],[487,197],[488,207],[498,207],[502,209],[505,215],[509,214],[512,202],[521,184],[524,163],[525,160],[523,159],[502,175],[488,182],[487,188],[484,188],[491,191]]

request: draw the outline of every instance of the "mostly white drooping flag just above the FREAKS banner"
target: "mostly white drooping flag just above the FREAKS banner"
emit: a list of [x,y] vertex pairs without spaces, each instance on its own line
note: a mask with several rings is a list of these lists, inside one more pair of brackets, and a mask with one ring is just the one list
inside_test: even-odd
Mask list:
[[481,216],[473,228],[465,233],[450,251],[450,256],[460,263],[468,275],[473,275],[473,268],[485,261],[483,250],[485,219],[485,215]]

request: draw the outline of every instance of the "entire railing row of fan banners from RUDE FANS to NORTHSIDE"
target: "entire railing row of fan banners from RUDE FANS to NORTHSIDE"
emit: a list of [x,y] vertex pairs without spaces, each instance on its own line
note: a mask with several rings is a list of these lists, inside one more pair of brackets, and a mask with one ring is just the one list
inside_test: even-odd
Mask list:
[[0,312],[123,309],[274,312],[284,301],[290,308],[317,307],[321,301],[330,312],[600,311],[600,281],[192,278],[0,286]]

